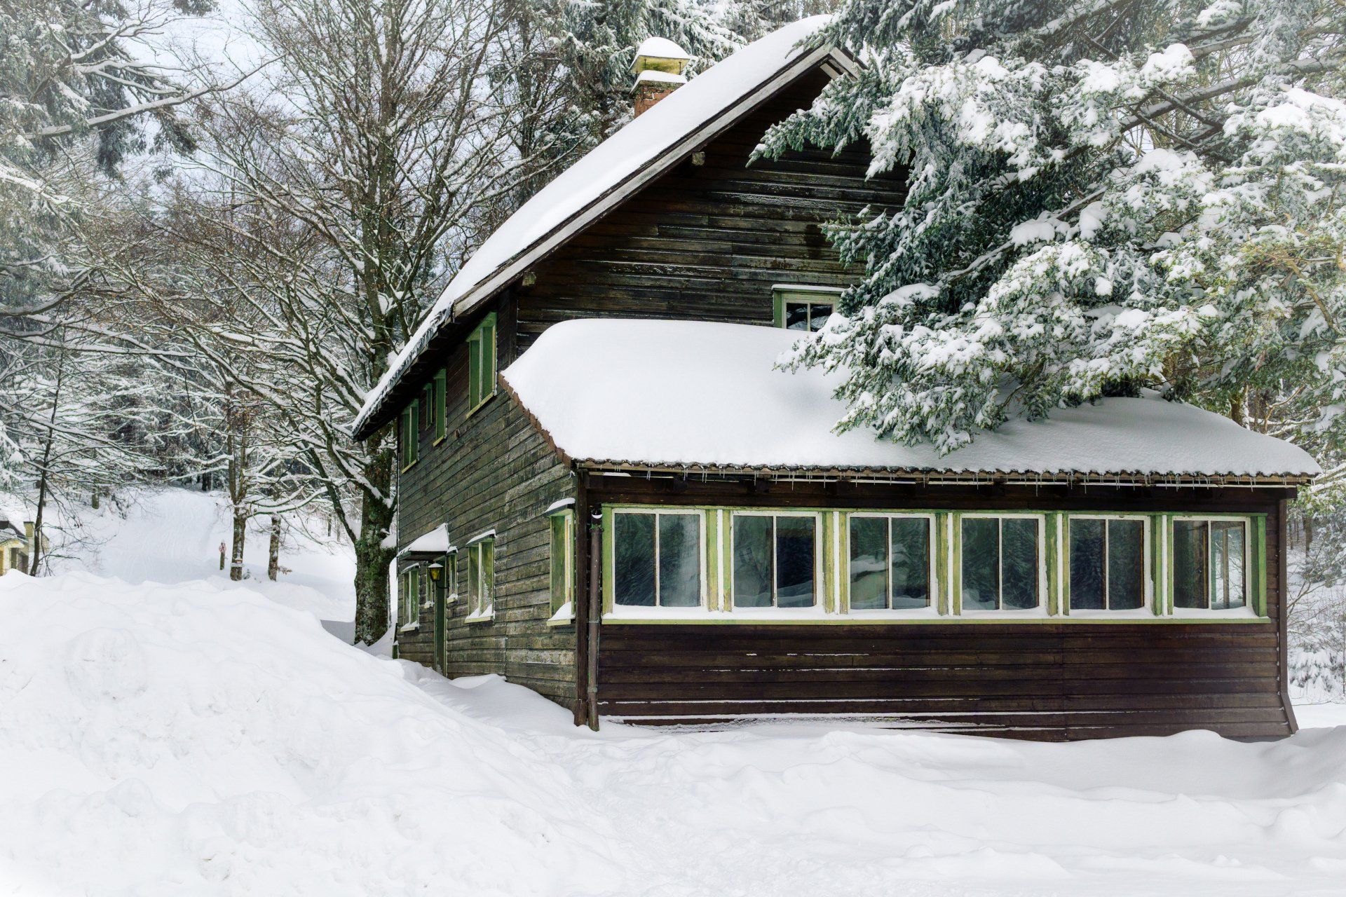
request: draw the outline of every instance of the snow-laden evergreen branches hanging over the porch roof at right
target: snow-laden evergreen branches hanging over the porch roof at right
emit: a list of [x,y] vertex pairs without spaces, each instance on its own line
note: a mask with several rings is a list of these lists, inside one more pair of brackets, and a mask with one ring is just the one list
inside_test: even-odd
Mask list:
[[758,152],[867,140],[909,192],[830,229],[868,277],[793,362],[942,451],[1141,387],[1331,445],[1343,32],[1326,0],[851,0],[820,39],[863,70]]

